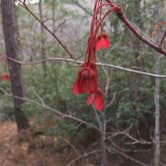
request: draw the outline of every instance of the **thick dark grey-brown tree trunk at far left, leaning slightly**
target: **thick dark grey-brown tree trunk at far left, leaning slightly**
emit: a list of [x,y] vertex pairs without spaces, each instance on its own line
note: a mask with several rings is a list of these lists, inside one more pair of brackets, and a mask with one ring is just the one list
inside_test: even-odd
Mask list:
[[24,97],[22,81],[21,81],[21,66],[14,62],[12,59],[17,59],[20,53],[18,26],[15,15],[14,0],[1,0],[2,7],[2,23],[4,40],[6,46],[6,54],[9,63],[9,73],[11,80],[11,90],[14,101],[14,113],[17,123],[18,131],[21,129],[27,129],[29,127],[29,121],[21,110]]

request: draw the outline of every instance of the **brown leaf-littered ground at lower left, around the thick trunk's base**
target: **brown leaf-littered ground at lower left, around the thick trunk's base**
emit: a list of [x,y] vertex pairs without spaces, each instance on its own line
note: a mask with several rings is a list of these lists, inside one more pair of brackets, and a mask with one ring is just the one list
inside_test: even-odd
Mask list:
[[[72,148],[57,150],[55,141],[37,129],[18,134],[14,122],[0,122],[0,166],[66,166],[77,155]],[[93,166],[86,160],[76,165]]]

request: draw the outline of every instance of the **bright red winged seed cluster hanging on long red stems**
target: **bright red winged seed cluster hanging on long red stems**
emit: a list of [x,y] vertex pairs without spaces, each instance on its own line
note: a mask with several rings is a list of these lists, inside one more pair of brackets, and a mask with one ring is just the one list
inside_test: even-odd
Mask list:
[[[102,8],[105,6],[110,8],[102,15]],[[73,93],[87,94],[87,105],[93,104],[96,110],[104,109],[103,92],[97,82],[96,51],[109,47],[109,39],[103,31],[102,23],[105,17],[115,10],[121,12],[121,8],[113,5],[112,2],[104,3],[102,0],[95,0],[84,63],[73,86]]]

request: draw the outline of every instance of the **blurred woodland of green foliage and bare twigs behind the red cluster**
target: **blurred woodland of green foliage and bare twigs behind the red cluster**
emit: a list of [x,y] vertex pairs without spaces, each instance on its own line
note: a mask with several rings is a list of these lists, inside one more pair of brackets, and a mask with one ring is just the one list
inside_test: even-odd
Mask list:
[[[166,57],[136,38],[116,13],[111,13],[103,24],[110,46],[97,53],[98,81],[104,91],[105,108],[96,111],[86,105],[86,95],[72,93],[86,53],[94,1],[31,2],[26,1],[28,9],[19,0],[15,3],[20,52],[14,57],[14,62],[21,66],[21,109],[30,127],[20,130],[17,126],[18,133],[9,140],[10,150],[14,149],[12,157],[6,158],[6,165],[0,157],[0,165],[166,165]],[[147,38],[160,41],[166,29],[166,0],[114,3]],[[8,121],[15,124],[17,115],[13,111],[13,80],[4,79],[11,76],[11,71],[4,58],[2,20],[1,16],[0,125],[7,125]],[[63,41],[66,50],[46,28]],[[26,147],[25,153],[22,146]]]

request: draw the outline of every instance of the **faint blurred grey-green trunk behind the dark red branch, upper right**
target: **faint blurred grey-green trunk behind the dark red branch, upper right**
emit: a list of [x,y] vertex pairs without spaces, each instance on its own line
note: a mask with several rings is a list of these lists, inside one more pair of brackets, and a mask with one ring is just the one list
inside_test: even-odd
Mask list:
[[[141,20],[141,0],[131,0],[128,7],[128,14],[131,19],[138,25],[142,27],[142,20]],[[132,14],[131,14],[132,12]],[[143,68],[143,60],[139,58],[140,50],[141,50],[141,42],[133,37],[130,43],[133,53],[131,59],[131,65],[135,68]],[[132,74],[129,76],[129,85],[130,85],[130,98],[133,101],[133,110],[139,111],[139,107],[136,106],[139,98],[139,87],[141,86],[142,79],[138,77],[137,74]]]

